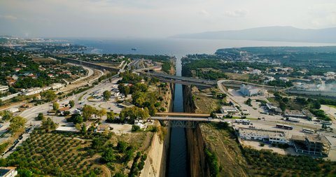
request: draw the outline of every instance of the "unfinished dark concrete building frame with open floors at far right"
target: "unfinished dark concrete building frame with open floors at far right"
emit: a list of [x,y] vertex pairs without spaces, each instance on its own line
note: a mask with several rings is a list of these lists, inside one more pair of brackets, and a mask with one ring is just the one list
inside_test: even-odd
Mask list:
[[291,143],[296,153],[305,155],[328,156],[331,143],[320,134],[293,135]]

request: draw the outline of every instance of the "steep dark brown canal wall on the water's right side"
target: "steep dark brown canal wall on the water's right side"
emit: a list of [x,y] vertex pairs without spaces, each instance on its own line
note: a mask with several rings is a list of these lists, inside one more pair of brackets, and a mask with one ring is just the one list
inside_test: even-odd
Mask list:
[[[183,86],[183,106],[185,112],[194,113],[196,110],[190,86]],[[190,176],[210,176],[209,165],[205,159],[206,143],[200,127],[186,129],[188,169]]]

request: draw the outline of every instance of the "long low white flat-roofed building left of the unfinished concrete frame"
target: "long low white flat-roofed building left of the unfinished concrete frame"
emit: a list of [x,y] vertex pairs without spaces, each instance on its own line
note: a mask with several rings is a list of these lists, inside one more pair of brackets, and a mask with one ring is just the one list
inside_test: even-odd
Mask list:
[[259,140],[269,143],[288,143],[286,134],[268,129],[239,128],[239,137],[247,140]]

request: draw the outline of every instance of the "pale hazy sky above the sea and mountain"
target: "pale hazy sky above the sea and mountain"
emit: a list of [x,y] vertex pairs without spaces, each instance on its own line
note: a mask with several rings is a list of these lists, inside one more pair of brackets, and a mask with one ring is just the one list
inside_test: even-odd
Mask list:
[[158,38],[265,26],[336,27],[336,1],[0,0],[0,35]]

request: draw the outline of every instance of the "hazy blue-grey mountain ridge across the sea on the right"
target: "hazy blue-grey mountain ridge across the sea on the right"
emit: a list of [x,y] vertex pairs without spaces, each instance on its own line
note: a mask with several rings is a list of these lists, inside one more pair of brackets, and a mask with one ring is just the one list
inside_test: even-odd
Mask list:
[[178,34],[171,37],[251,41],[336,43],[336,27],[325,29],[299,29],[295,27],[258,27],[231,31],[208,31],[196,34]]

